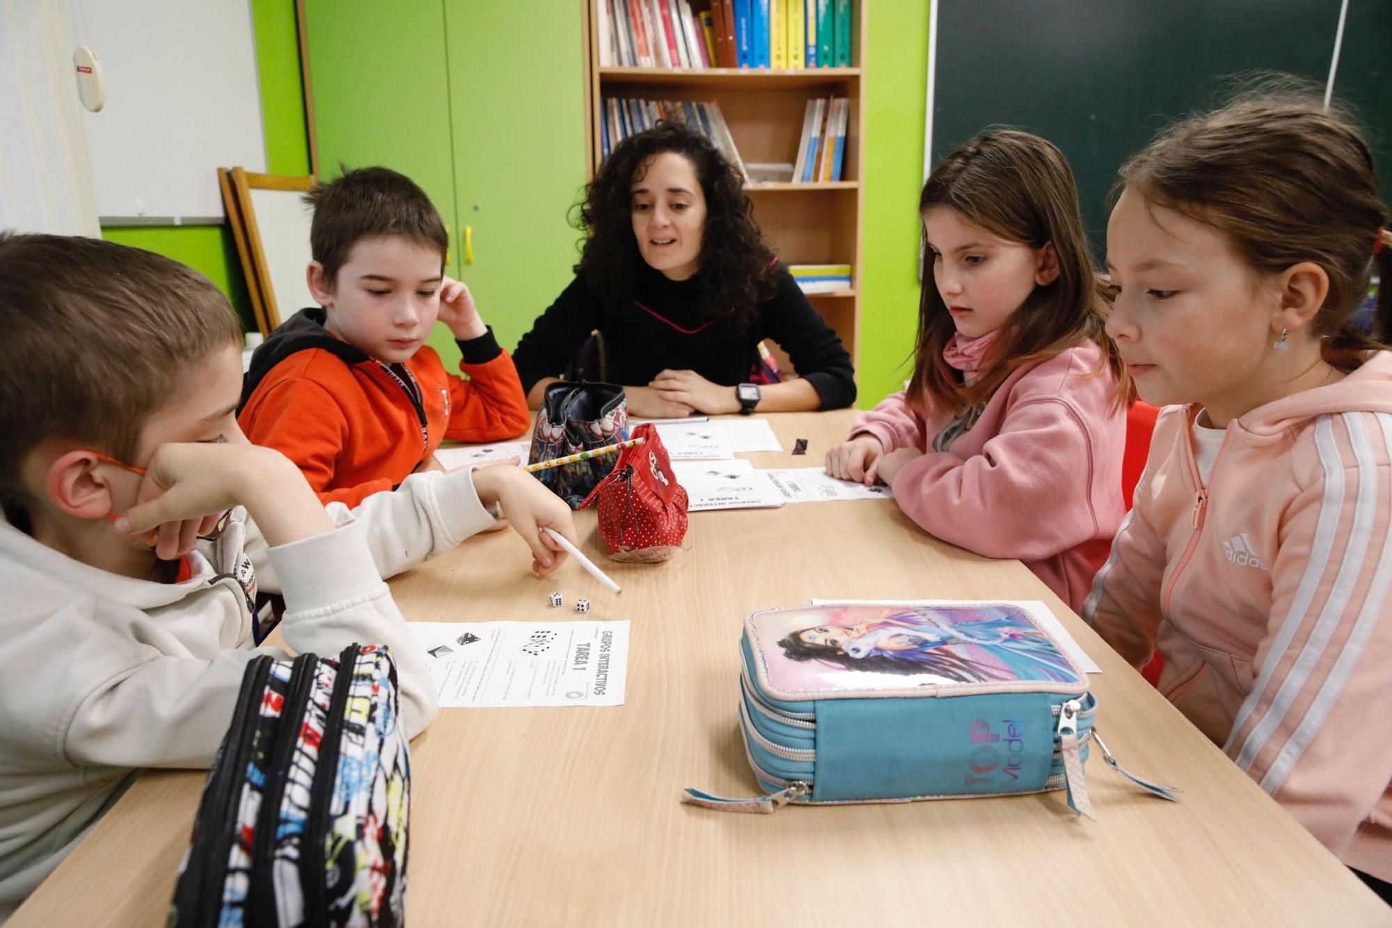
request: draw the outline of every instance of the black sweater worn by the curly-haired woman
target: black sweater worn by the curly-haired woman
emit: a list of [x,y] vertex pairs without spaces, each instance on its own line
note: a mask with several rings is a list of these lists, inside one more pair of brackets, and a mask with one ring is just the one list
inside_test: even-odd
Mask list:
[[855,371],[841,339],[823,322],[792,274],[778,266],[778,288],[756,309],[746,332],[703,326],[700,274],[668,280],[646,265],[639,272],[633,314],[617,318],[576,277],[522,336],[512,355],[528,393],[543,378],[561,376],[575,353],[599,330],[604,336],[607,376],[614,383],[646,386],[664,369],[695,371],[711,383],[749,380],[759,343],[773,339],[798,376],[821,397],[821,408],[839,410],[856,399]]

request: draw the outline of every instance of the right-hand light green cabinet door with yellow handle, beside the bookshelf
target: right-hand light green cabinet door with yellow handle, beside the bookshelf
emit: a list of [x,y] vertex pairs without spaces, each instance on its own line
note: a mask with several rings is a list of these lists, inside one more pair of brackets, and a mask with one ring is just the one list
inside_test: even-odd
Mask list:
[[[580,234],[585,28],[575,0],[445,0],[461,279],[512,350],[561,293]],[[464,227],[473,263],[462,262]]]

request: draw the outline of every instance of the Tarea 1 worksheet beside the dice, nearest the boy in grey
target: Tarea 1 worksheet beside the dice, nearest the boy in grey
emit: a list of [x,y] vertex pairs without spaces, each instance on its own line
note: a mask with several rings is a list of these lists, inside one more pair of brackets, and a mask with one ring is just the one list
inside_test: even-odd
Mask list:
[[408,621],[441,708],[624,705],[628,620]]

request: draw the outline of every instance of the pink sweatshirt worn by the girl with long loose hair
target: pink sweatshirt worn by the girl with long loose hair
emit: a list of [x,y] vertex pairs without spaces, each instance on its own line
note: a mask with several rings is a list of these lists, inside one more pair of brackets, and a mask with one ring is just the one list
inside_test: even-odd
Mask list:
[[1125,514],[1126,417],[1115,393],[1101,348],[1084,341],[1012,372],[945,451],[933,439],[954,411],[924,418],[903,393],[860,414],[851,436],[924,451],[895,474],[899,509],[954,545],[1018,557],[1079,609]]

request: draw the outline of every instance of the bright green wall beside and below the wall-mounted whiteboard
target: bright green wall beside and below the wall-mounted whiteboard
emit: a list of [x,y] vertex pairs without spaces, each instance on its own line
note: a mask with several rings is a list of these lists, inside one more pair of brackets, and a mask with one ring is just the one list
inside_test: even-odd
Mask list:
[[[299,79],[295,3],[252,0],[252,20],[262,130],[266,134],[266,169],[271,174],[308,174],[309,135],[305,130],[305,98]],[[102,237],[159,252],[202,272],[232,301],[242,327],[256,327],[246,277],[228,226],[117,226],[103,227]]]

